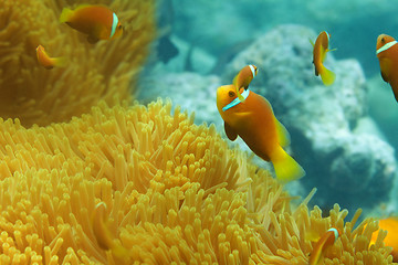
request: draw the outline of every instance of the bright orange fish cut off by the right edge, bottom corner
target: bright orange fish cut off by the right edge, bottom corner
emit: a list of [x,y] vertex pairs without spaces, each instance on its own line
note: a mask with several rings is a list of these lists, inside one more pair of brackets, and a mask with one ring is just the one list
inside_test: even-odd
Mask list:
[[386,230],[387,236],[384,240],[386,246],[391,246],[392,262],[398,262],[398,218],[379,220],[379,229],[371,234],[370,244],[375,244],[379,230]]

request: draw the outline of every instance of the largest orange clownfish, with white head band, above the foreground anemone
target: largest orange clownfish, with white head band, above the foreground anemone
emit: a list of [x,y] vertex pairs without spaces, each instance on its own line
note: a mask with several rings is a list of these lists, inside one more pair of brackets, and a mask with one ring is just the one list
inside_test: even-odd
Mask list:
[[304,169],[283,150],[290,145],[290,135],[275,118],[271,104],[250,89],[242,87],[241,92],[244,102],[238,98],[234,85],[217,89],[217,108],[227,137],[233,141],[239,135],[256,156],[273,163],[282,182],[303,177]]

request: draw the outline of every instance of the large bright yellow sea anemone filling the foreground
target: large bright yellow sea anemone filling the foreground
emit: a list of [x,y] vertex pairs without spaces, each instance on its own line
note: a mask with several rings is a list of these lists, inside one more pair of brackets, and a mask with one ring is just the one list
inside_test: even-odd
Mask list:
[[[390,264],[377,222],[298,206],[213,126],[160,99],[104,102],[70,123],[0,121],[1,264],[305,264],[331,226],[325,264]],[[293,210],[292,210],[293,209]],[[365,224],[368,224],[365,229]]]

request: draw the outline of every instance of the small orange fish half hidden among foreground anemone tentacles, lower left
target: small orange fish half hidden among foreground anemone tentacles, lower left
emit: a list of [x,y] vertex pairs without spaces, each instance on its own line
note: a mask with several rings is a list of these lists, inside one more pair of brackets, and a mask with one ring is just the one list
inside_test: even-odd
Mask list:
[[[104,251],[112,251],[113,256],[116,259],[128,259],[128,251],[122,245],[119,241],[115,240],[115,236],[109,230],[108,219],[106,216],[106,204],[100,202],[95,205],[92,215],[94,236],[101,248]],[[122,263],[129,264],[129,263]]]

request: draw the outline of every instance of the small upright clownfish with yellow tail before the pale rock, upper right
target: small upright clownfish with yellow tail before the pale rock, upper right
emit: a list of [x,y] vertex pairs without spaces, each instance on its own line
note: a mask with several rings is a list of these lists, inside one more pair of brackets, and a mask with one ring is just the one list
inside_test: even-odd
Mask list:
[[315,75],[321,75],[322,82],[327,86],[332,85],[336,77],[332,71],[329,71],[323,65],[323,62],[326,59],[326,53],[336,50],[328,49],[329,38],[331,35],[326,31],[323,31],[316,38],[315,44],[311,41],[311,44],[314,47],[313,64],[315,66]]

